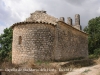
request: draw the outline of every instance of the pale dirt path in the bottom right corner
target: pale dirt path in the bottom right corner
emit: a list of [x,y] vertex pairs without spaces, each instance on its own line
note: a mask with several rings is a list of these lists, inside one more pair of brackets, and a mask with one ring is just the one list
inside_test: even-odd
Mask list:
[[74,69],[66,75],[100,75],[100,64],[90,67],[83,67],[80,69]]

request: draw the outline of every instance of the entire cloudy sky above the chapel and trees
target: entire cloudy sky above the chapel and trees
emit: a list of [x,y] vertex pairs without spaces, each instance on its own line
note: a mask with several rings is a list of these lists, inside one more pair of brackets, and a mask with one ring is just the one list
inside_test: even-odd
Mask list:
[[100,16],[100,0],[0,0],[0,34],[3,29],[24,21],[36,10],[45,10],[56,18],[80,14],[84,28],[92,18]]

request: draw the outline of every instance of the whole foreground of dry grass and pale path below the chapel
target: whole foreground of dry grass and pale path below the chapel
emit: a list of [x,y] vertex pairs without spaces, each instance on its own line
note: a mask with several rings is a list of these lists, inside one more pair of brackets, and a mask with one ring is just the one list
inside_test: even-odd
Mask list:
[[[11,62],[0,64],[0,68],[4,69],[3,75],[100,75],[100,59],[78,59],[66,62],[35,62],[29,61],[26,65],[13,65]],[[8,69],[54,69],[56,71],[7,71]],[[5,71],[6,70],[6,71]],[[62,71],[61,71],[62,70]]]

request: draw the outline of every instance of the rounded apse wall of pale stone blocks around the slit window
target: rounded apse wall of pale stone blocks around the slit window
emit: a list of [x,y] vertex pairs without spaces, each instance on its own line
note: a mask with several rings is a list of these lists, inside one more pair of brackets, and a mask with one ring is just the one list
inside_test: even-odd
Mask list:
[[[22,42],[19,44],[19,36]],[[53,60],[55,28],[49,24],[21,24],[13,29],[12,63]]]

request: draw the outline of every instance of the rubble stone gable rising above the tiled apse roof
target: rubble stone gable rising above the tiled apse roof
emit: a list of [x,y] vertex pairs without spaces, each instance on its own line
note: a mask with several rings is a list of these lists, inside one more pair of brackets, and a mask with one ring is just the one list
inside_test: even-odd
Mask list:
[[34,13],[31,14],[29,18],[26,19],[26,21],[42,21],[42,22],[48,22],[48,23],[53,23],[56,24],[58,21],[58,18],[55,18],[53,16],[50,16],[46,14],[46,11],[35,11]]

